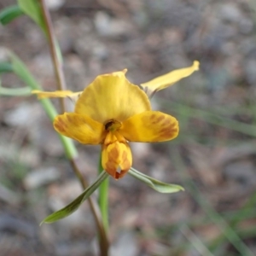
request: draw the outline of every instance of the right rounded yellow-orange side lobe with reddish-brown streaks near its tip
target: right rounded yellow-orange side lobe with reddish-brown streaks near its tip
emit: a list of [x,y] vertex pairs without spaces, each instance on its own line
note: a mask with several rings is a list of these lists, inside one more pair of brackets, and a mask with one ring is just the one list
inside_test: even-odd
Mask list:
[[172,115],[146,111],[125,120],[119,133],[130,142],[165,142],[177,137],[178,122]]

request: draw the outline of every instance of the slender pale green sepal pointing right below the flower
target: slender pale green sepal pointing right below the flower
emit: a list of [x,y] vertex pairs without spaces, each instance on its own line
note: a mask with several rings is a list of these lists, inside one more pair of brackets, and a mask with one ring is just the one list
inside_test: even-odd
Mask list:
[[142,172],[138,172],[136,169],[132,168],[128,172],[131,176],[136,177],[143,183],[146,183],[150,188],[160,192],[160,193],[175,193],[180,190],[184,190],[183,187],[170,184],[170,183],[162,183],[159,180],[155,179],[154,177],[149,177]]

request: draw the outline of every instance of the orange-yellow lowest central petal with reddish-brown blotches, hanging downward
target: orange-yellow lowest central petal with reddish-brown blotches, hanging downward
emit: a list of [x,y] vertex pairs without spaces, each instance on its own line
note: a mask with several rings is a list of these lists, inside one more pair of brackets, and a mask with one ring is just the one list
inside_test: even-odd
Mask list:
[[[113,143],[109,143],[110,141]],[[112,132],[108,132],[105,143],[102,144],[103,169],[115,179],[119,179],[130,170],[131,162],[131,148],[128,143],[119,142]]]

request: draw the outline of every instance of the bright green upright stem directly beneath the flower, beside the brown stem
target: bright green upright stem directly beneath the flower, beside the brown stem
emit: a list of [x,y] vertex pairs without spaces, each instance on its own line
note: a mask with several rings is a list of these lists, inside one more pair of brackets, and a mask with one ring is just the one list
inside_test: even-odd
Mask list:
[[[101,174],[103,172],[102,168],[102,155],[99,159],[98,172]],[[99,207],[102,212],[102,222],[105,228],[105,231],[108,232],[108,184],[109,178],[106,178],[99,188]]]

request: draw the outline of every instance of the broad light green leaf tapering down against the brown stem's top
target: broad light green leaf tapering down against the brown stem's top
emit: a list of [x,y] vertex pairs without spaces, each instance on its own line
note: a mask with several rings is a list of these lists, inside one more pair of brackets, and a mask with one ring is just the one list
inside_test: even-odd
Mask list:
[[45,23],[44,23],[44,17],[42,13],[41,6],[39,4],[38,0],[17,0],[20,9],[28,15],[32,20],[34,20],[38,26],[40,26],[44,32],[46,32],[45,29]]

